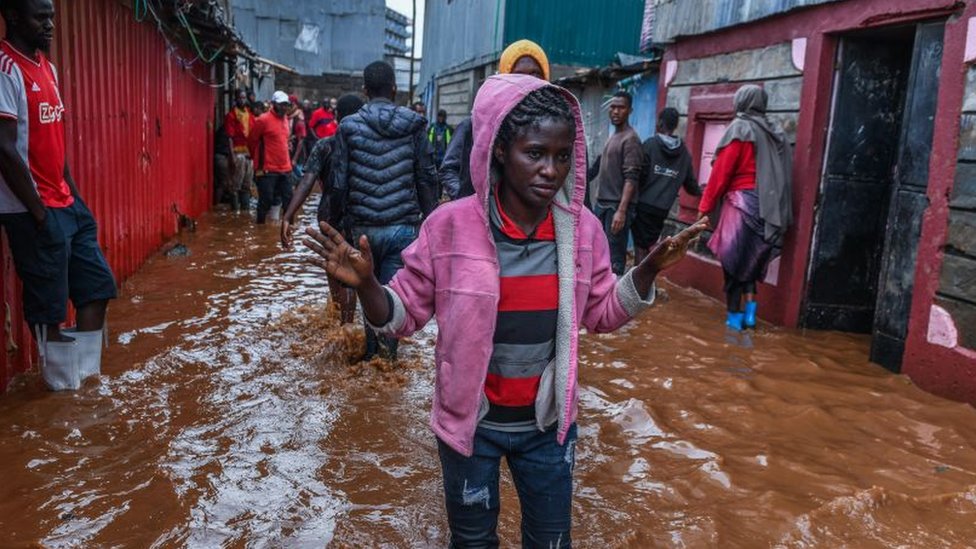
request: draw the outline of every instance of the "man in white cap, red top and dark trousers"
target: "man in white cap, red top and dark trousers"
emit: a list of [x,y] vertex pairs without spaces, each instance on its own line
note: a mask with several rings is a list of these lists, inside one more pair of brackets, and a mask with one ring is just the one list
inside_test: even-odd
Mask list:
[[258,185],[258,211],[256,221],[264,224],[275,197],[282,204],[291,202],[292,170],[291,155],[288,153],[288,139],[291,129],[288,125],[288,109],[291,101],[283,91],[271,96],[272,108],[254,121],[254,128],[248,136],[251,157],[254,159],[254,173]]

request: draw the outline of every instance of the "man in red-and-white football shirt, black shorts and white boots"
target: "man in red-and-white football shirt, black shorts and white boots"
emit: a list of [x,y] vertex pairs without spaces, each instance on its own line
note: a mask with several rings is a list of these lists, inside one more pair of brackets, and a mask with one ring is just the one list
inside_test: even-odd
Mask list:
[[[68,170],[65,106],[44,52],[54,32],[51,0],[0,5],[0,223],[23,282],[24,317],[37,339],[41,375],[53,390],[77,389],[101,368],[115,278],[98,228]],[[67,301],[77,326],[62,332]]]

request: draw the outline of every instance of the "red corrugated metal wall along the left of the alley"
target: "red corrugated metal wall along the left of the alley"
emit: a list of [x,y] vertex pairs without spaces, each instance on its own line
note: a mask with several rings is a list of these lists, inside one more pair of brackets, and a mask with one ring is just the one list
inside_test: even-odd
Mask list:
[[[60,0],[52,57],[66,105],[68,162],[99,224],[116,277],[131,275],[177,231],[174,209],[207,210],[212,194],[214,90],[192,55],[169,48],[117,0]],[[0,390],[29,365],[19,283],[4,246],[7,353]]]

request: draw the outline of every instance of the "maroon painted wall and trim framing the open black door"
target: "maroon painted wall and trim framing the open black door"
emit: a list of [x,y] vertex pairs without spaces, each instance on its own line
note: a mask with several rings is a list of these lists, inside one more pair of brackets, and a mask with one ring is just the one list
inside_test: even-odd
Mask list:
[[[903,371],[927,390],[976,404],[974,355],[933,345],[927,340],[929,314],[939,286],[942,248],[947,237],[948,196],[955,176],[966,70],[963,59],[966,30],[968,20],[976,17],[976,3],[971,0],[858,0],[826,4],[725,31],[679,39],[667,49],[663,64],[761,48],[794,38],[807,39],[794,156],[796,226],[786,241],[779,283],[763,285],[760,289],[764,317],[778,324],[796,326],[806,288],[814,208],[830,119],[836,34],[946,16],[949,19],[928,187],[930,207],[925,213],[919,243]],[[667,94],[662,91],[658,97],[663,108]],[[723,298],[721,269],[714,262],[701,258],[684,262],[669,278]]]

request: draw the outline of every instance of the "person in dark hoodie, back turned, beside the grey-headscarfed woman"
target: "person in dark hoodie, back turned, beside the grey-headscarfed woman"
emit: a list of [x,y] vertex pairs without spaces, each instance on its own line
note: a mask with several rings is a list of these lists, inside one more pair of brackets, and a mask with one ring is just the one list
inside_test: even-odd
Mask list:
[[701,196],[691,154],[681,138],[674,135],[677,128],[678,111],[671,107],[662,110],[657,117],[657,134],[642,146],[646,164],[638,188],[637,215],[631,225],[637,264],[660,238],[678,188]]

